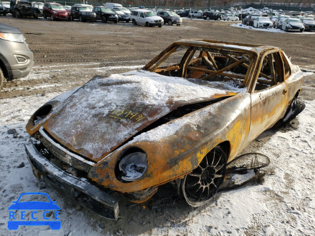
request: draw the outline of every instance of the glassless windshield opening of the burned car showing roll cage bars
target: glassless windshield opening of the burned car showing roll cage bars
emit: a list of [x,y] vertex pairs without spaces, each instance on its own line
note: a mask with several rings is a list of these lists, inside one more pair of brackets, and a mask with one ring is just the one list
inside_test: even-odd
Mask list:
[[144,69],[164,76],[182,77],[207,87],[244,89],[249,83],[250,61],[254,59],[248,53],[179,45]]

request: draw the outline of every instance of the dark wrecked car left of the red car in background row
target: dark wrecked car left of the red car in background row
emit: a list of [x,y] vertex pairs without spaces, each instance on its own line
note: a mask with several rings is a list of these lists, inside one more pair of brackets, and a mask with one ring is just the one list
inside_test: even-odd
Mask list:
[[29,0],[11,0],[9,12],[16,18],[32,16],[37,19],[41,15],[39,8],[33,7]]

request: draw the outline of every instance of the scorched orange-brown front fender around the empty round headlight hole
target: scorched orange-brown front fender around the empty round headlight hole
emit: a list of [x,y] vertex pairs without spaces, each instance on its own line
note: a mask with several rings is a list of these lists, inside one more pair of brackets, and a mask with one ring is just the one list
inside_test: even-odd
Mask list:
[[[142,133],[100,160],[91,168],[89,177],[120,192],[143,190],[185,176],[211,149],[225,141],[230,143],[231,161],[247,145],[250,104],[250,93],[243,92]],[[178,129],[172,132],[173,127]],[[165,130],[164,137],[157,135]],[[129,148],[142,149],[148,156],[148,167],[139,179],[123,183],[117,179],[115,169]]]

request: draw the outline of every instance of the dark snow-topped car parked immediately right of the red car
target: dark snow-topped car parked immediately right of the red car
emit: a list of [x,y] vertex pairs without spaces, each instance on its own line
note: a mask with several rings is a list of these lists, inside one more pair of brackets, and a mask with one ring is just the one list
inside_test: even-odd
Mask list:
[[83,4],[74,4],[71,7],[70,20],[74,21],[79,19],[80,22],[92,21],[96,22],[96,14],[92,11],[93,6]]

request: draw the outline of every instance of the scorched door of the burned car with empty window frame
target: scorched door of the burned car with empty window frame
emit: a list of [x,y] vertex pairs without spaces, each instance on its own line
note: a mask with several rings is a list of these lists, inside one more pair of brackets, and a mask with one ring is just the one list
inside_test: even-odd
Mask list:
[[288,105],[284,63],[279,51],[266,52],[258,62],[251,93],[251,142],[282,118]]

